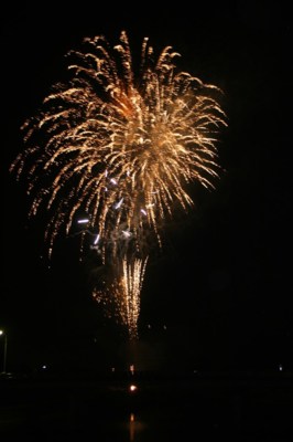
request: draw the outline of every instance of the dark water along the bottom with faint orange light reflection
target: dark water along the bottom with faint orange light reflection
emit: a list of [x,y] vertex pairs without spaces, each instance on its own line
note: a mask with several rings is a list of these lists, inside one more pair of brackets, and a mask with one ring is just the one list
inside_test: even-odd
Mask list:
[[291,378],[6,382],[0,441],[290,442],[292,398]]

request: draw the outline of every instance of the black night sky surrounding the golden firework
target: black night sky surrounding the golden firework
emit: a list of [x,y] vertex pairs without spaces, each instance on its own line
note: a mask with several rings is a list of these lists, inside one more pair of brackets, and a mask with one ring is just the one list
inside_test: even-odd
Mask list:
[[8,168],[23,149],[21,124],[64,74],[65,53],[84,36],[105,34],[117,43],[126,30],[134,51],[143,36],[158,51],[172,45],[183,70],[221,87],[228,116],[216,189],[195,187],[195,210],[174,220],[146,269],[140,316],[145,359],[292,367],[290,13],[280,3],[246,1],[216,9],[195,2],[194,11],[144,8],[85,2],[65,13],[23,7],[1,19],[0,327],[9,337],[9,364],[57,365],[62,356],[99,366],[122,348],[123,330],[91,299],[89,266],[78,262],[73,241],[61,240],[51,269],[40,257],[42,219],[28,221],[24,182]]

